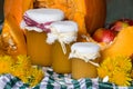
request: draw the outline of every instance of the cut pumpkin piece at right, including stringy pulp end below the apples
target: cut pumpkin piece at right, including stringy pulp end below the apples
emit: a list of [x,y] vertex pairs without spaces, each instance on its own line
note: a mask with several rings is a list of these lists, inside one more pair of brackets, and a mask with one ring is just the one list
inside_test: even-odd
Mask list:
[[82,34],[79,37],[79,41],[82,42],[95,42],[101,47],[102,60],[110,57],[117,56],[132,57],[133,56],[133,27],[126,27],[122,29],[112,41],[112,43],[96,42],[90,34]]

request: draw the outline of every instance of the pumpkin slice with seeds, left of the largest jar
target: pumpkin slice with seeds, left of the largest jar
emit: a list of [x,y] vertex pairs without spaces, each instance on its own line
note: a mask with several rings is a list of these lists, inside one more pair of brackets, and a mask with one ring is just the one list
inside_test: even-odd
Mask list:
[[3,50],[11,56],[27,55],[25,39],[12,14],[7,16],[2,29]]

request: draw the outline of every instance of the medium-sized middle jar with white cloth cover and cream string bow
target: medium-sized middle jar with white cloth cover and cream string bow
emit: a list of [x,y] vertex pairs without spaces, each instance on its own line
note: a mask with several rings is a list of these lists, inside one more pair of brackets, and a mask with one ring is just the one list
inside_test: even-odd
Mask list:
[[51,23],[51,32],[48,33],[48,42],[53,43],[52,68],[58,73],[71,72],[69,60],[71,43],[76,41],[78,24],[73,21],[58,21]]

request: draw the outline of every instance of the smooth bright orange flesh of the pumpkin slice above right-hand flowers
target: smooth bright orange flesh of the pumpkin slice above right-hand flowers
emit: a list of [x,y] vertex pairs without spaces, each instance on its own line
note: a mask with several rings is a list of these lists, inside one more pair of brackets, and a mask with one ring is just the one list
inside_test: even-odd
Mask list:
[[106,57],[133,55],[133,27],[122,29],[113,43],[102,51],[103,59]]

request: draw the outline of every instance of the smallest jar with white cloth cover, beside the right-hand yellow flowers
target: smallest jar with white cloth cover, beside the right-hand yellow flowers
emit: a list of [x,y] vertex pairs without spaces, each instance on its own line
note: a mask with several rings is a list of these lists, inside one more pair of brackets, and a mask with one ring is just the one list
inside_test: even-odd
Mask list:
[[71,47],[72,78],[96,78],[100,47],[93,42],[76,42]]

